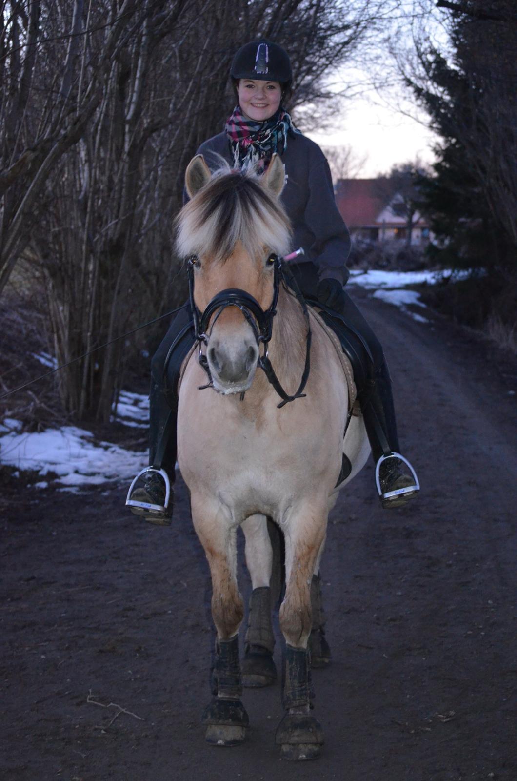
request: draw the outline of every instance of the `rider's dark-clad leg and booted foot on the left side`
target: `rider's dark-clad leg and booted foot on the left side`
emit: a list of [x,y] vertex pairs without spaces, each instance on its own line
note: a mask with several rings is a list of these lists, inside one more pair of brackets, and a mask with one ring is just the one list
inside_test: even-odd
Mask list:
[[[169,483],[174,483],[175,480],[177,383],[181,364],[192,344],[194,333],[191,328],[191,315],[188,308],[184,308],[173,319],[151,363],[149,466],[164,469]],[[144,487],[135,488],[130,498],[163,507],[166,485],[162,477],[150,472],[144,475],[144,480]],[[131,507],[131,512],[155,524],[169,524],[173,514],[173,489],[171,488],[169,504],[162,511]]]

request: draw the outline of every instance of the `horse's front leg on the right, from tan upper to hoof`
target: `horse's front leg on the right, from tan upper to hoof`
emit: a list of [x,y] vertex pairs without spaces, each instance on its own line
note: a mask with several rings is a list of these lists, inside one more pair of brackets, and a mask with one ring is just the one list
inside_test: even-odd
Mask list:
[[323,731],[309,715],[312,683],[308,637],[312,629],[311,583],[326,533],[327,505],[304,505],[287,520],[286,594],[280,606],[280,629],[286,640],[283,716],[276,730],[285,759],[319,756]]

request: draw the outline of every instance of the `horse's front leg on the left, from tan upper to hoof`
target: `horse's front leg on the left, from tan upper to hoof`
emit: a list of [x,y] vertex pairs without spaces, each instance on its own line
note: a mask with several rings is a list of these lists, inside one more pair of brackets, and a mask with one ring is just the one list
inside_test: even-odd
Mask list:
[[222,508],[214,511],[192,497],[192,520],[205,549],[212,576],[212,617],[217,629],[215,690],[202,722],[206,740],[216,746],[242,743],[249,726],[241,703],[242,676],[239,662],[239,626],[244,605],[237,587],[236,528]]

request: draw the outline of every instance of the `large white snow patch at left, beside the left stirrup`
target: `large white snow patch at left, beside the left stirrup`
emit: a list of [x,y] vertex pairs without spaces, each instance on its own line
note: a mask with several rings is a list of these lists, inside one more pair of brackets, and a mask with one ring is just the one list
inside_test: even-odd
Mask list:
[[99,485],[127,480],[148,464],[147,451],[134,452],[109,442],[95,442],[90,431],[75,426],[0,437],[0,462],[58,475],[62,486]]

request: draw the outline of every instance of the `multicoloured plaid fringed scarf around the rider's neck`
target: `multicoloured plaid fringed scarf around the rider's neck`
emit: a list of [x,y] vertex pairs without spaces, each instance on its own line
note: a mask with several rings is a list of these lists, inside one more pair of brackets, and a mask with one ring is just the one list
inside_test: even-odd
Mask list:
[[259,170],[269,165],[273,153],[282,155],[287,149],[287,137],[301,135],[294,127],[291,116],[280,109],[265,122],[246,119],[241,107],[236,106],[233,114],[226,120],[226,135],[230,142],[230,154],[236,168],[247,168],[256,164]]

